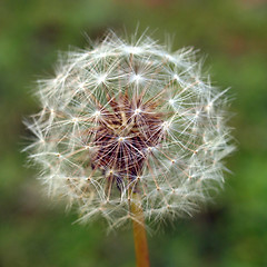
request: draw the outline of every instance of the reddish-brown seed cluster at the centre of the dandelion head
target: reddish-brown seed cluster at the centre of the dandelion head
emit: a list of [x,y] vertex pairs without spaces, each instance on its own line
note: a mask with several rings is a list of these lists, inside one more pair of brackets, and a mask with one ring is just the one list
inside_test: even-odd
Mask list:
[[102,108],[95,129],[92,168],[100,168],[106,177],[130,182],[141,175],[151,148],[164,138],[162,119],[155,112],[157,103],[140,99],[129,100],[127,95],[109,100],[110,109]]

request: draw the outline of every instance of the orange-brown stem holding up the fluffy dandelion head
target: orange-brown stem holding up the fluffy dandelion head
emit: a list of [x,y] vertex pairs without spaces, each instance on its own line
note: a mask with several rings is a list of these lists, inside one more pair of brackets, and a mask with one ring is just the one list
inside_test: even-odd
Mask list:
[[132,200],[130,209],[134,215],[132,228],[136,248],[136,263],[137,267],[149,267],[149,254],[147,244],[147,234],[145,229],[144,211],[140,205],[140,195],[132,192]]

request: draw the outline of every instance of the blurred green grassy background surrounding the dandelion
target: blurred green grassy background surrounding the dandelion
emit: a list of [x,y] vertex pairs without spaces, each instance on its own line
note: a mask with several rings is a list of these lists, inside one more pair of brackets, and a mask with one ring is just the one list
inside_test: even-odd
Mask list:
[[[215,85],[231,87],[230,123],[238,150],[225,190],[191,219],[149,237],[151,266],[267,266],[267,3],[264,0],[2,0],[0,3],[0,266],[135,266],[131,229],[72,224],[75,211],[42,196],[26,168],[38,111],[34,80],[52,73],[57,51],[85,47],[107,28],[149,27],[172,50],[194,46],[208,57]],[[156,30],[156,31],[155,31]],[[211,66],[211,67],[210,67]]]

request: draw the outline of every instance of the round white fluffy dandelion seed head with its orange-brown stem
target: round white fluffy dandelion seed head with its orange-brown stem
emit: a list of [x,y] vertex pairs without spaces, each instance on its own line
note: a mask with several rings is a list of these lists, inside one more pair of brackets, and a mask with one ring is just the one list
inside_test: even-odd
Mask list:
[[38,81],[42,110],[27,122],[49,195],[75,204],[85,222],[134,220],[137,250],[145,220],[197,210],[224,182],[233,150],[226,90],[200,67],[192,49],[170,52],[145,34],[110,32],[62,55],[56,76]]

